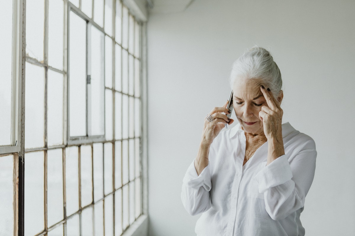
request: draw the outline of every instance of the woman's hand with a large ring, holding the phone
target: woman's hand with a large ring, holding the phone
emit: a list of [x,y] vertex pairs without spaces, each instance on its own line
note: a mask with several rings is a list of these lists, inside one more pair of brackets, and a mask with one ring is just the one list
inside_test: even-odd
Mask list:
[[212,109],[212,111],[209,113],[213,116],[212,122],[208,122],[207,119],[205,119],[201,140],[202,145],[211,145],[214,138],[217,137],[219,132],[224,128],[224,125],[233,123],[234,120],[229,119],[227,115],[225,115],[230,113],[226,108],[227,105],[228,101],[223,105],[223,107],[215,107]]

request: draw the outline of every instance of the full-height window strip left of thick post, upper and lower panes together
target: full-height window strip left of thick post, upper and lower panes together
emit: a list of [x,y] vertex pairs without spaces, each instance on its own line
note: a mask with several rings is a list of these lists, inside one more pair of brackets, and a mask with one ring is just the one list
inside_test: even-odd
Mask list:
[[22,32],[20,22],[22,1],[5,1],[0,8],[0,232],[14,235],[18,217],[18,174],[21,126]]

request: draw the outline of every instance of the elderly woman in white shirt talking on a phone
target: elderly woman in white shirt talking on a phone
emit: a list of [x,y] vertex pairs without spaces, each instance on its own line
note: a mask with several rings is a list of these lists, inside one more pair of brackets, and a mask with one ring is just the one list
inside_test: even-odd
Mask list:
[[181,198],[198,236],[305,235],[300,221],[316,167],[313,139],[282,124],[281,74],[261,47],[246,51],[230,76],[231,124],[226,104],[204,121],[195,160],[185,174]]

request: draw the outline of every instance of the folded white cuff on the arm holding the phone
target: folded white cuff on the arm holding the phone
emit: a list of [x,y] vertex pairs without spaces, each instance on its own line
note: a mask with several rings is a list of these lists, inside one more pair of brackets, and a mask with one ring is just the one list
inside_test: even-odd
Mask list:
[[186,186],[192,189],[200,189],[202,186],[206,191],[211,190],[212,183],[211,183],[211,171],[208,165],[203,169],[200,175],[197,175],[195,163],[192,162],[189,168],[187,169],[184,182]]

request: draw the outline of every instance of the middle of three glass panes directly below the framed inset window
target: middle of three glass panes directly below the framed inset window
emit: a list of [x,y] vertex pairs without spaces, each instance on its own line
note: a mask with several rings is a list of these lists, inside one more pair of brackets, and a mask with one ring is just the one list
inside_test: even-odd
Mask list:
[[81,206],[92,203],[92,158],[91,146],[80,147],[81,164]]

